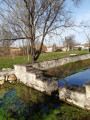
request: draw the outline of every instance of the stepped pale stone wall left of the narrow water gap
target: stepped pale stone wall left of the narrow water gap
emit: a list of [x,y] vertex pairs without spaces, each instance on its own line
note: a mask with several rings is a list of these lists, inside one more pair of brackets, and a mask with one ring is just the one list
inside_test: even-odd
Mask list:
[[15,75],[20,82],[41,92],[51,94],[58,89],[58,81],[43,76],[43,72],[31,65],[14,65]]

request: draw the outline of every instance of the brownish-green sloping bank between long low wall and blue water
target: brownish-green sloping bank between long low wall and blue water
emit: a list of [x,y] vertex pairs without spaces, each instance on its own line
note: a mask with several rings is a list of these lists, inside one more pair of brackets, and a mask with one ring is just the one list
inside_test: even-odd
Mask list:
[[44,75],[53,76],[56,78],[63,78],[73,73],[80,72],[89,67],[90,67],[90,59],[68,63],[63,66],[48,69],[47,71],[44,71]]

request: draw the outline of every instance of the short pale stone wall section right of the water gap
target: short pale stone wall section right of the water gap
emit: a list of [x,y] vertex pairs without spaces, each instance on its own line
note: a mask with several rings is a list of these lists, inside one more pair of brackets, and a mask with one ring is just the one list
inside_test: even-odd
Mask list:
[[59,99],[90,110],[90,81],[83,87],[66,85],[59,88]]

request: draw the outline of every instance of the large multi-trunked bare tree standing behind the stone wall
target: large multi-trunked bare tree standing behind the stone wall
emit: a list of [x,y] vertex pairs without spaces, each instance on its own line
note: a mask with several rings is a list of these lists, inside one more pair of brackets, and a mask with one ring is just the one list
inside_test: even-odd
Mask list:
[[[41,54],[45,37],[50,32],[71,26],[68,0],[2,0],[0,9],[2,21],[14,32],[17,39],[29,39],[32,62]],[[78,4],[80,0],[71,0]],[[35,41],[39,38],[40,49],[35,51]],[[4,40],[7,40],[8,37]]]

